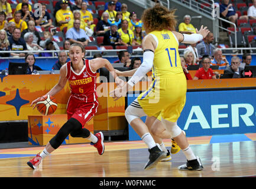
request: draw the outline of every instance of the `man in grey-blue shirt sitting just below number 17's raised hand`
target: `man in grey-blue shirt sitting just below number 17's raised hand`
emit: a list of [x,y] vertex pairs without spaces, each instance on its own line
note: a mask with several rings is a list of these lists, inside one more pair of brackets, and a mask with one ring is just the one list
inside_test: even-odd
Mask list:
[[199,58],[202,58],[204,55],[209,57],[213,56],[213,50],[216,48],[215,45],[212,44],[213,40],[213,33],[209,32],[209,34],[196,45]]

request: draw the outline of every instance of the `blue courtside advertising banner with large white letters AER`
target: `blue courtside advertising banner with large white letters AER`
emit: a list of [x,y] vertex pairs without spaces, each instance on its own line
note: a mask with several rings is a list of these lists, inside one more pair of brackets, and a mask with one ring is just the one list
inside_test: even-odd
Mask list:
[[[135,98],[129,94],[128,105]],[[177,125],[189,137],[255,133],[255,99],[255,89],[187,92],[186,105]],[[131,126],[129,140],[140,140]]]

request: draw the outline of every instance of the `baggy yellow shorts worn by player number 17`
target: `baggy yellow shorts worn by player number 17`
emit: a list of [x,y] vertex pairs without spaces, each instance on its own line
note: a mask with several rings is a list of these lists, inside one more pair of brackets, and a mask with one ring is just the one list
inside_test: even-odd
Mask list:
[[138,96],[138,103],[148,116],[176,122],[186,103],[186,91],[184,74],[155,79],[150,88]]

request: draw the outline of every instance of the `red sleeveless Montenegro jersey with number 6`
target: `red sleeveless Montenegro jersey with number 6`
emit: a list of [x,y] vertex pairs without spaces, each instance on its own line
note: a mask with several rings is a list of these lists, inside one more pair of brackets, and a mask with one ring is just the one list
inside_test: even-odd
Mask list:
[[75,73],[71,61],[66,64],[67,79],[71,89],[71,95],[77,100],[86,103],[94,102],[97,100],[96,95],[96,72],[90,70],[89,60],[83,59],[84,66],[80,73]]

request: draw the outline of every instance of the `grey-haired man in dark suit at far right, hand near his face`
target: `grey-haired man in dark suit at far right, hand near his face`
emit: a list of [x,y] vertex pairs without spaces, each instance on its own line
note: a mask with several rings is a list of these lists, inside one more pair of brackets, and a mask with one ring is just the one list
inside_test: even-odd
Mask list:
[[243,76],[244,69],[240,66],[240,58],[234,56],[231,58],[231,66],[226,67],[224,74],[232,74],[232,78],[241,78]]

